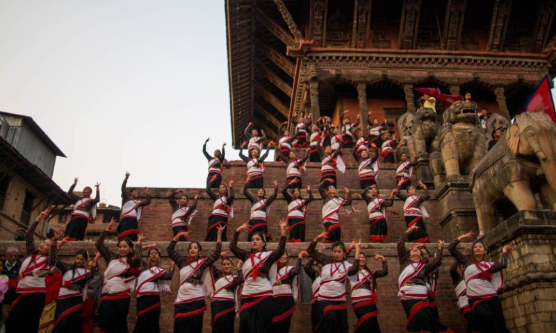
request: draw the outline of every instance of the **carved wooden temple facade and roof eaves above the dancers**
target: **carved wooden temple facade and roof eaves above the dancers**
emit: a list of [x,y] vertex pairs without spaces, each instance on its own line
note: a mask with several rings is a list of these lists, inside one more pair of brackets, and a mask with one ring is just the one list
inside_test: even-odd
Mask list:
[[[414,87],[471,92],[507,119],[555,74],[556,1],[227,0],[234,147],[294,114],[394,121]],[[525,15],[524,15],[525,14]],[[437,105],[443,110],[443,105]]]

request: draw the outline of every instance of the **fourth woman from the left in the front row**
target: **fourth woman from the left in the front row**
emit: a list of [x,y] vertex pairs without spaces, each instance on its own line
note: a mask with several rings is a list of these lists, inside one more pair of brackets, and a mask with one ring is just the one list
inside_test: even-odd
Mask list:
[[[140,237],[144,240],[145,237]],[[156,248],[157,244],[139,246],[138,249],[148,249],[149,259],[147,262],[141,260],[141,270],[137,278],[137,322],[133,333],[160,333],[158,323],[161,318],[161,292],[170,293],[170,281],[174,276],[174,263],[166,271],[158,266],[161,259],[161,251]]]

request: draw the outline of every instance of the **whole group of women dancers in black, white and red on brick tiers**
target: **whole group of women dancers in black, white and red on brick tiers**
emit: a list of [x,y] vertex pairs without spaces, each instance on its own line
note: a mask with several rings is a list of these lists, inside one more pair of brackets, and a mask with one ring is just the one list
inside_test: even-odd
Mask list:
[[[145,245],[146,237],[138,232],[138,222],[145,206],[151,203],[148,189],[140,196],[138,189],[129,189],[126,173],[122,184],[122,213],[120,221],[113,219],[96,241],[97,254],[87,260],[83,252],[76,253],[73,264],[63,264],[57,259],[58,249],[68,241],[83,240],[87,224],[96,217],[96,204],[99,200],[99,184],[96,185],[97,197],[92,198],[92,189],[85,187],[82,196],[70,195],[76,200],[72,220],[67,224],[63,239],[56,232],[54,238],[42,241],[35,249],[33,233],[38,223],[49,216],[49,211],[42,212],[28,228],[26,235],[26,257],[22,264],[17,282],[18,298],[13,303],[10,317],[6,323],[8,333],[36,332],[40,314],[44,307],[44,276],[58,268],[63,273],[63,284],[58,296],[56,318],[53,332],[79,332],[81,329],[80,311],[84,298],[85,286],[97,273],[98,262],[104,259],[104,284],[99,301],[98,324],[100,332],[127,332],[127,316],[131,294],[137,296],[137,323],[134,332],[160,332],[161,292],[171,292],[170,280],[175,268],[179,271],[179,287],[174,302],[174,332],[202,332],[203,316],[206,311],[206,299],[211,305],[211,325],[213,332],[234,332],[234,321],[239,318],[239,332],[265,333],[288,332],[291,318],[295,311],[295,302],[300,300],[298,275],[302,270],[313,281],[311,299],[311,321],[313,332],[348,332],[347,293],[349,284],[352,307],[358,318],[354,332],[380,332],[377,318],[377,279],[389,274],[384,256],[373,254],[373,259],[382,263],[382,269],[373,271],[368,268],[368,257],[361,252],[361,240],[353,241],[348,248],[341,241],[339,210],[351,205],[352,194],[344,188],[344,196],[336,191],[336,169],[342,171],[342,148],[352,148],[353,155],[359,162],[359,182],[361,197],[368,205],[370,240],[384,241],[387,234],[386,207],[393,205],[395,196],[404,201],[404,218],[407,231],[398,241],[400,277],[399,293],[402,306],[407,315],[407,332],[452,332],[438,316],[435,293],[438,286],[438,268],[441,266],[444,242],[438,241],[438,250],[434,257],[425,246],[430,242],[423,218],[427,217],[423,202],[429,198],[427,187],[418,182],[424,190],[423,195],[416,193],[416,186],[411,185],[411,168],[414,162],[407,160],[407,154],[400,154],[395,189],[389,198],[379,198],[376,184],[378,156],[386,162],[393,162],[393,151],[389,149],[395,139],[390,133],[381,133],[377,137],[375,127],[370,127],[369,135],[362,136],[357,123],[351,124],[347,117],[341,117],[342,126],[332,126],[327,117],[318,119],[319,126],[311,125],[311,119],[300,118],[296,123],[296,133],[288,135],[281,128],[279,142],[279,159],[287,164],[287,185],[281,194],[288,203],[285,219],[279,220],[280,235],[277,248],[267,250],[270,241],[268,233],[268,208],[279,193],[278,182],[274,182],[274,191],[268,196],[264,189],[264,133],[250,126],[246,129],[250,138],[242,146],[240,157],[247,164],[247,180],[243,194],[252,205],[250,221],[247,221],[234,233],[229,242],[228,253],[222,251],[222,241],[227,241],[227,225],[233,216],[234,182],[227,185],[222,182],[222,164],[224,163],[224,145],[213,155],[204,155],[208,160],[208,177],[206,193],[213,200],[213,210],[208,218],[204,241],[215,242],[212,253],[204,257],[202,244],[191,241],[188,226],[197,214],[197,199],[193,202],[183,190],[177,190],[167,196],[172,207],[172,230],[174,238],[165,249],[172,259],[170,267],[160,265],[161,250],[157,244]],[[307,128],[313,128],[309,131]],[[380,126],[379,126],[380,127]],[[332,136],[332,133],[334,136]],[[340,134],[341,133],[341,134]],[[353,134],[352,134],[353,133]],[[359,134],[357,134],[359,133]],[[361,136],[360,136],[361,135]],[[375,136],[375,137],[373,137]],[[306,141],[304,141],[306,139]],[[327,142],[327,139],[330,141]],[[382,142],[382,154],[378,154],[377,143]],[[304,164],[316,159],[313,143],[321,162],[321,179],[318,186],[324,202],[322,223],[324,231],[300,251],[295,264],[289,263],[286,243],[305,241],[306,207],[313,200],[311,187],[306,186],[307,197],[302,197],[302,173]],[[337,144],[333,148],[334,144]],[[308,146],[306,155],[297,158],[293,146]],[[243,148],[248,148],[247,156]],[[289,149],[289,150],[288,150]],[[388,158],[386,158],[388,157]],[[256,189],[256,194],[250,193]],[[407,194],[402,194],[404,190]],[[176,196],[179,198],[176,200]],[[111,230],[117,230],[117,251],[113,252],[104,241]],[[240,248],[240,234],[245,232],[250,248]],[[289,234],[289,235],[288,235]],[[289,237],[288,237],[289,236]],[[473,232],[462,235],[453,241],[448,250],[455,257],[456,263],[450,271],[457,292],[458,306],[461,314],[468,320],[468,332],[507,332],[497,290],[500,287],[500,272],[507,265],[507,253],[513,246],[502,250],[500,262],[486,259],[486,246],[480,239],[475,240],[470,252],[461,253],[458,248],[462,239],[473,239]],[[176,250],[179,241],[188,241],[186,253]],[[324,241],[332,244],[332,252],[325,253],[318,243]],[[405,243],[420,243],[406,248]],[[148,250],[147,259],[142,255]],[[348,255],[354,250],[354,259],[348,262]],[[303,264],[303,260],[309,260]],[[220,268],[215,264],[220,259]]]

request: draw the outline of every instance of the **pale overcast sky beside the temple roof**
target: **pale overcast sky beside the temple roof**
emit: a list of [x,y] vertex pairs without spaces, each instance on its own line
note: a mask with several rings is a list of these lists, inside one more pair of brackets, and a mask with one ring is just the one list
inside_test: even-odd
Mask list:
[[204,139],[231,144],[224,0],[0,0],[0,110],[67,155],[63,189],[204,187]]

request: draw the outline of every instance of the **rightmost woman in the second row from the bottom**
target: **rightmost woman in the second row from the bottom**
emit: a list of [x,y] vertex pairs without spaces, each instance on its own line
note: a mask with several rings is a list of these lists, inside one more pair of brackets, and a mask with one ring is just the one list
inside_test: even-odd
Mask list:
[[[401,181],[398,182],[398,185],[401,185],[400,183]],[[425,194],[423,196],[417,195],[417,190],[414,185],[407,188],[407,196],[402,194],[400,191],[396,193],[396,196],[404,202],[404,219],[407,228],[411,228],[413,225],[417,225],[419,227],[417,230],[409,234],[409,241],[414,243],[429,243],[429,235],[427,234],[425,221],[423,220],[429,217],[429,214],[427,213],[427,210],[425,210],[423,203],[425,200],[430,198],[430,194],[427,186],[423,184],[423,182],[419,180],[418,183],[418,186],[423,187],[425,190]]]

